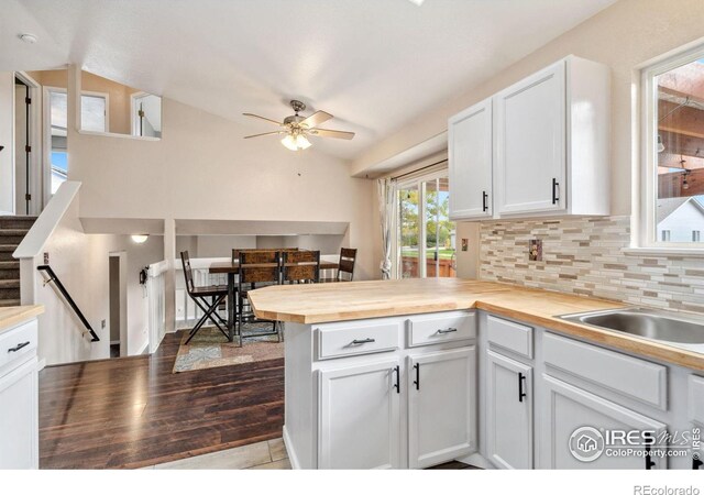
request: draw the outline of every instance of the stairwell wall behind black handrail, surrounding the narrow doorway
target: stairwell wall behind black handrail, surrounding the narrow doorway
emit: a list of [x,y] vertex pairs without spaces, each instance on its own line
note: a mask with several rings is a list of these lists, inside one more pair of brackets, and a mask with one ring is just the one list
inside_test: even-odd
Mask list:
[[[75,199],[43,249],[56,275],[69,292],[80,310],[100,337],[90,342],[82,337],[85,328],[73,310],[58,295],[53,284],[44,286],[43,276],[36,277],[33,304],[43,305],[40,318],[40,359],[46,364],[61,364],[110,356],[110,284],[109,255],[124,252],[127,258],[127,330],[128,354],[134,355],[147,340],[148,311],[144,287],[139,284],[139,272],[161,261],[163,238],[151,235],[144,244],[134,244],[129,235],[85,234],[78,218],[79,200]],[[43,254],[34,266],[43,264]],[[106,320],[106,328],[101,321]]]

